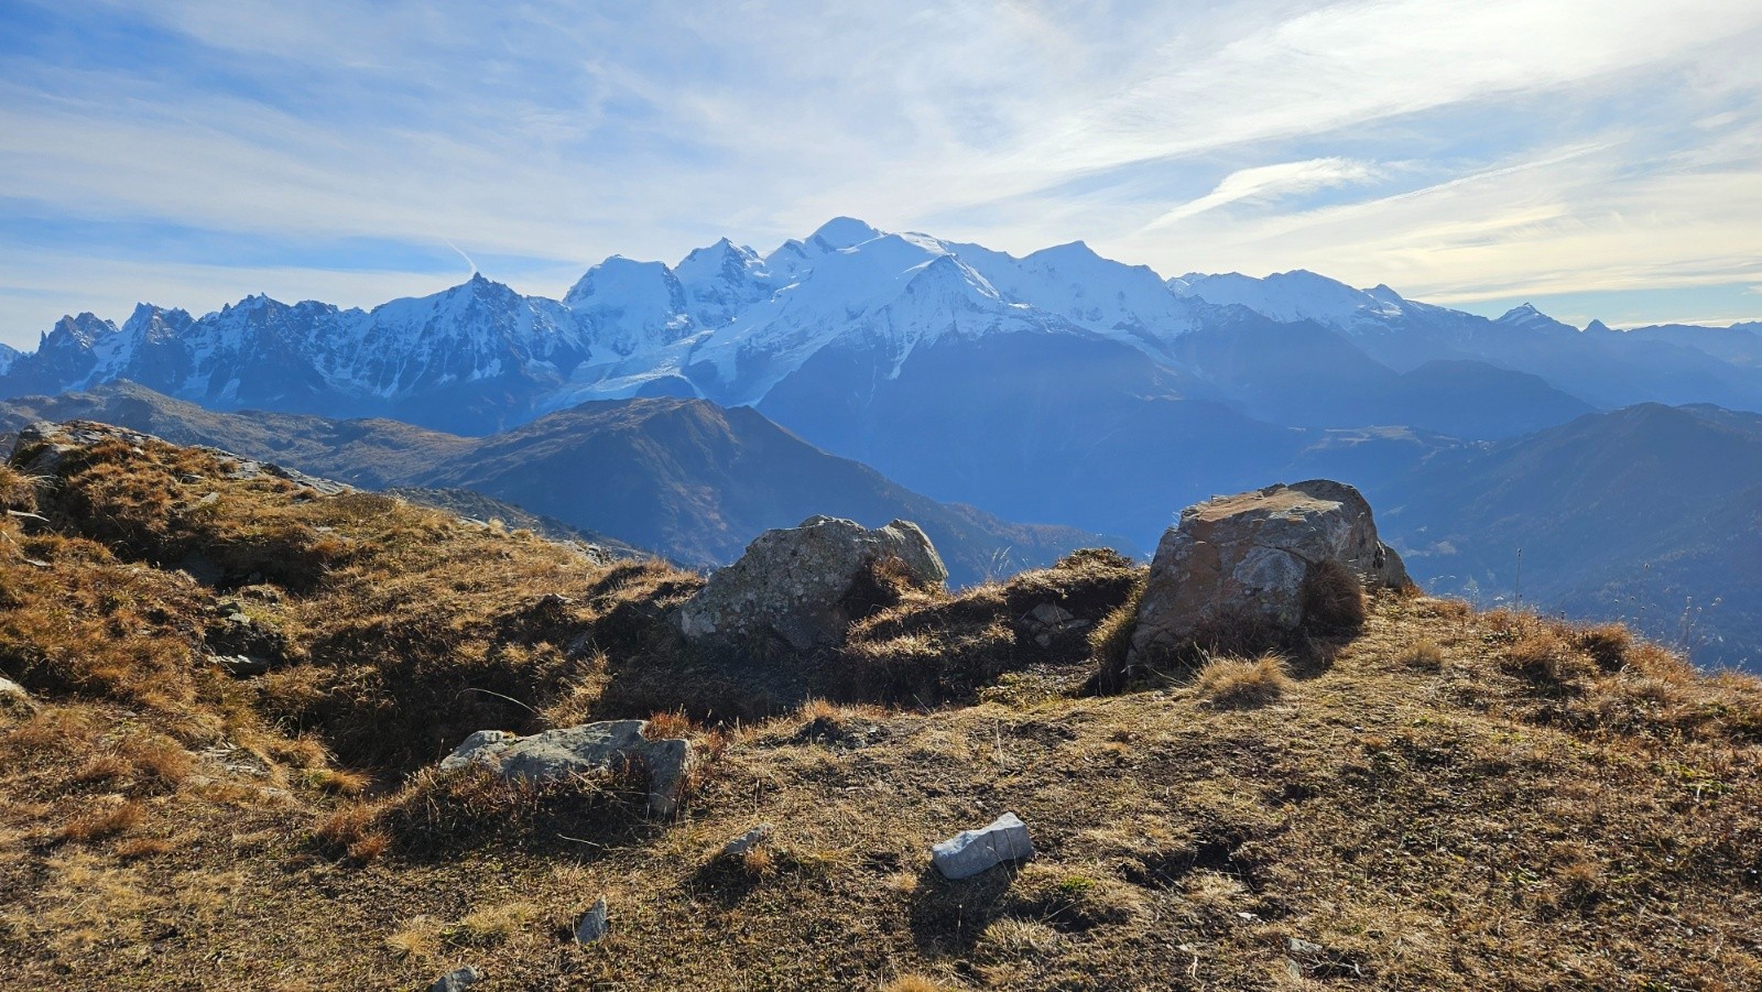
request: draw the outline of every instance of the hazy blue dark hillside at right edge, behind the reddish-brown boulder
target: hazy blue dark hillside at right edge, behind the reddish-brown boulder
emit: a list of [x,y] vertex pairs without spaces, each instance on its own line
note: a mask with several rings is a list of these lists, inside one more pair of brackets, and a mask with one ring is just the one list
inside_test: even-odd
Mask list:
[[1387,530],[1440,590],[1762,664],[1762,416],[1646,403],[1441,451],[1373,490],[1399,493]]

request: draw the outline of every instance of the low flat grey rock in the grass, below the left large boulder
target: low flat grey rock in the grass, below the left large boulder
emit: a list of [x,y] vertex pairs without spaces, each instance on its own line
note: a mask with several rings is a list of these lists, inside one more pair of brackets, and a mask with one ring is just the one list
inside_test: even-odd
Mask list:
[[507,781],[555,782],[634,763],[648,777],[648,809],[655,816],[671,816],[691,768],[691,744],[678,738],[648,740],[643,737],[647,724],[648,721],[604,721],[530,737],[479,729],[440,761],[440,770],[483,765]]

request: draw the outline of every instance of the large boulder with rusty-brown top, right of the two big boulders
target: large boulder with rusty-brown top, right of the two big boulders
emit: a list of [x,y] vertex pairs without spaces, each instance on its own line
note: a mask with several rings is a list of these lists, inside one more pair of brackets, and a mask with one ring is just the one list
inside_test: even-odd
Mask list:
[[1371,504],[1344,483],[1281,483],[1189,506],[1156,546],[1131,655],[1242,631],[1295,631],[1304,587],[1325,562],[1364,585],[1410,583],[1401,557],[1376,537]]

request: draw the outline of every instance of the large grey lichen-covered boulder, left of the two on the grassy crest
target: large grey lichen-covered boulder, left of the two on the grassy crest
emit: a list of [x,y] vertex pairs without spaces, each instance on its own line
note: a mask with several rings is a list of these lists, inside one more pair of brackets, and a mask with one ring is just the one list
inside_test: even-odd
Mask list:
[[717,571],[678,611],[691,641],[745,643],[774,634],[796,650],[844,643],[849,599],[883,559],[904,578],[941,587],[948,569],[916,523],[874,530],[851,520],[811,516],[800,527],[759,534],[740,560]]

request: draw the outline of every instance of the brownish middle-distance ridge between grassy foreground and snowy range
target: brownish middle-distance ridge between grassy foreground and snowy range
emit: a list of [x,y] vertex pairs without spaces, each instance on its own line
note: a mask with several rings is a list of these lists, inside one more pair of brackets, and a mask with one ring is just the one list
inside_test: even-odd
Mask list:
[[703,400],[594,402],[490,437],[388,419],[220,414],[129,382],[0,403],[0,430],[74,418],[275,460],[365,488],[474,490],[596,543],[633,544],[694,567],[726,564],[759,532],[814,513],[870,525],[916,520],[943,550],[957,583],[1047,564],[1105,541],[1071,527],[1008,523],[969,506],[939,504],[814,449],[751,409],[722,411]]

